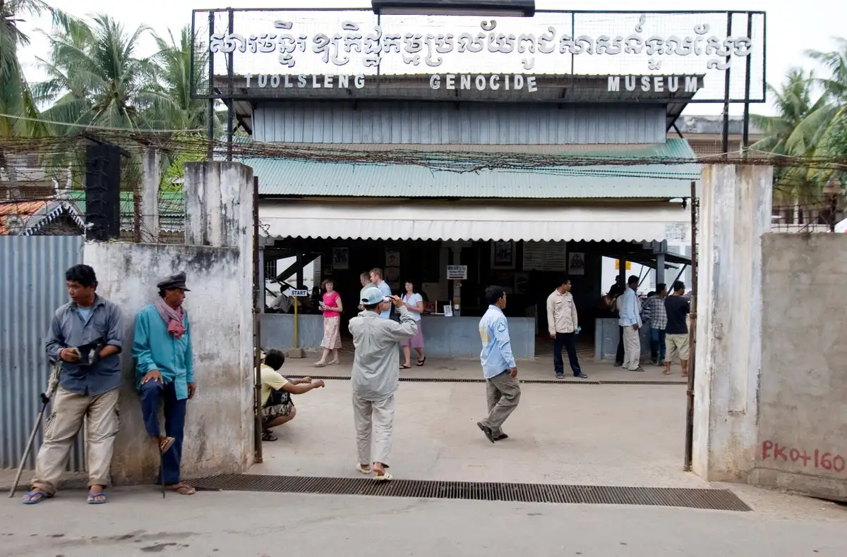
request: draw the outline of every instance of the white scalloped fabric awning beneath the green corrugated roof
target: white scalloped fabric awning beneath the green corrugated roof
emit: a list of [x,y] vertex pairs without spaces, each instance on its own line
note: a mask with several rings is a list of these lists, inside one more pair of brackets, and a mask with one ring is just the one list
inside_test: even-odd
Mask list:
[[[690,226],[680,203],[643,207],[491,207],[366,201],[260,201],[259,221],[277,238],[353,240],[653,241]],[[668,227],[667,225],[675,225]]]

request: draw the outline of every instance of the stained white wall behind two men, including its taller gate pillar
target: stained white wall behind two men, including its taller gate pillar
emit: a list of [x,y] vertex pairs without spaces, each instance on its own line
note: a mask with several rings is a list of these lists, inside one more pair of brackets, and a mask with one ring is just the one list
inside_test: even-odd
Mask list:
[[132,321],[154,301],[156,283],[185,271],[197,396],[188,405],[183,476],[245,472],[254,458],[252,168],[185,165],[185,243],[88,243],[100,294],[121,306],[127,331],[121,427],[113,483],[150,483],[159,458],[141,421],[131,361]]

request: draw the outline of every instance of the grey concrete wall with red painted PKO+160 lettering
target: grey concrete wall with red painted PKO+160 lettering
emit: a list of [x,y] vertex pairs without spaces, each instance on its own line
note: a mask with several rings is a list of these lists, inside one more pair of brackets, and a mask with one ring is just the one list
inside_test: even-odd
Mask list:
[[759,434],[749,481],[847,500],[844,234],[765,234]]

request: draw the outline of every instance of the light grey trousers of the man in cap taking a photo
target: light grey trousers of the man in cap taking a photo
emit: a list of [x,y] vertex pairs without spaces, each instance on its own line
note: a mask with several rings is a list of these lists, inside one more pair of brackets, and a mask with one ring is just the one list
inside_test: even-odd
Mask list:
[[353,394],[353,423],[356,425],[358,463],[370,466],[373,462],[381,462],[387,466],[394,428],[394,395],[385,400],[363,400]]

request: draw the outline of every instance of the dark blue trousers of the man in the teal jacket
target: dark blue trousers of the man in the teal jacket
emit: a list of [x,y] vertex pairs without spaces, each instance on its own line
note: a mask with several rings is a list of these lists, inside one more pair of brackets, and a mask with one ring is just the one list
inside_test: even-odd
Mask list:
[[163,385],[158,381],[148,381],[141,385],[141,414],[147,434],[158,437],[161,433],[158,423],[159,403],[164,405],[165,435],[174,438],[174,445],[162,455],[162,470],[159,481],[166,484],[180,483],[180,461],[182,460],[182,438],[185,430],[185,403],[187,399],[177,400],[174,383]]

